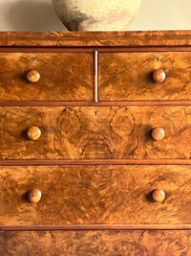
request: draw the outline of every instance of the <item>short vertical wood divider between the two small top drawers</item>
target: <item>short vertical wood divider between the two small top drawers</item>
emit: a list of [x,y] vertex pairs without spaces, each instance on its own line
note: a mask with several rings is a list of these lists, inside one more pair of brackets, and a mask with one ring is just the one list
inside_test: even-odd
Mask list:
[[94,78],[94,93],[93,93],[93,99],[95,103],[98,103],[98,52],[94,51],[94,55],[93,55],[93,65],[94,65],[94,74],[93,74],[93,78]]

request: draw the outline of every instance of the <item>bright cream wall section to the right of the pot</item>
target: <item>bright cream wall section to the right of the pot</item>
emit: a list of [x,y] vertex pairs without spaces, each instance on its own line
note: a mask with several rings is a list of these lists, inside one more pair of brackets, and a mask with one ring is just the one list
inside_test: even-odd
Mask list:
[[142,0],[129,30],[191,30],[191,0]]

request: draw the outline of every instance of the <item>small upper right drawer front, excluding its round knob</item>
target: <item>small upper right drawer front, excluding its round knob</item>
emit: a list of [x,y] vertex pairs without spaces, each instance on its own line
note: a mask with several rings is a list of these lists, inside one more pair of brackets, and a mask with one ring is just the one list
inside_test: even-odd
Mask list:
[[[100,101],[190,100],[191,53],[101,53],[98,56]],[[155,70],[166,79],[153,81]]]

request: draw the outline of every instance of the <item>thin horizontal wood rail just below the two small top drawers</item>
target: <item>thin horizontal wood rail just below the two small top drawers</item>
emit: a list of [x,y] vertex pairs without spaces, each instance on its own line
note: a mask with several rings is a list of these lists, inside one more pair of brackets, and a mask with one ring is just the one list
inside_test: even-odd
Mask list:
[[[95,91],[95,87],[93,88]],[[93,92],[94,94],[94,92]],[[94,97],[95,98],[95,97]],[[137,106],[137,105],[191,105],[191,100],[117,101],[117,102],[59,102],[59,101],[0,101],[0,106]]]

